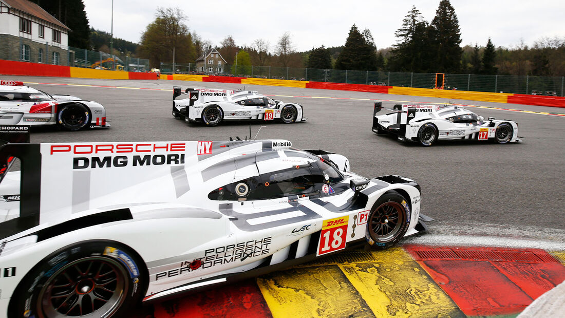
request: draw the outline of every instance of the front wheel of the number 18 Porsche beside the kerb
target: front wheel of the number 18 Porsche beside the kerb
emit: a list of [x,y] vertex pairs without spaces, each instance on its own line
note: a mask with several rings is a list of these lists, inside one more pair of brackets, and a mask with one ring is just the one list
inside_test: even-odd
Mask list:
[[369,213],[367,242],[372,249],[384,250],[395,245],[410,225],[410,207],[397,191],[381,196]]

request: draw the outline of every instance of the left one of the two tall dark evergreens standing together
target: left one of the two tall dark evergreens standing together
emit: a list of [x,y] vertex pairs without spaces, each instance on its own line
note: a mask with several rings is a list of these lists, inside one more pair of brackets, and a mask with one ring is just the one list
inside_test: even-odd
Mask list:
[[428,23],[420,11],[412,6],[402,20],[402,27],[394,35],[398,43],[394,45],[388,66],[391,71],[425,72],[429,63]]

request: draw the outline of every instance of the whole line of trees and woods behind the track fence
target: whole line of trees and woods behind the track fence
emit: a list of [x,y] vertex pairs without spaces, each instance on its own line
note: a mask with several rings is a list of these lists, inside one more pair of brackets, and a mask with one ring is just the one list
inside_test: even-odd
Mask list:
[[[89,27],[82,0],[38,3],[72,29],[69,46],[110,53],[111,34]],[[441,0],[436,16],[428,23],[412,6],[402,20],[392,47],[377,49],[369,29],[350,28],[345,43],[338,47],[312,47],[299,52],[292,34],[274,39],[258,38],[238,45],[232,34],[215,45],[190,31],[188,16],[179,8],[158,7],[155,20],[142,33],[140,43],[113,38],[113,54],[149,59],[160,63],[194,63],[210,47],[227,64],[292,68],[349,69],[420,73],[470,73],[484,75],[565,75],[565,37],[540,38],[533,46],[521,42],[511,47],[496,46],[490,38],[484,43],[461,47],[459,21],[449,0]],[[237,53],[237,54],[236,54]]]

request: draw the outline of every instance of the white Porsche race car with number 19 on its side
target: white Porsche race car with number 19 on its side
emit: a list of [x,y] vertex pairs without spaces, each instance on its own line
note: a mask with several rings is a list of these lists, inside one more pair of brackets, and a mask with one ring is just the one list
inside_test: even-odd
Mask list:
[[273,101],[253,90],[173,88],[173,117],[215,126],[222,120],[306,121],[301,104]]

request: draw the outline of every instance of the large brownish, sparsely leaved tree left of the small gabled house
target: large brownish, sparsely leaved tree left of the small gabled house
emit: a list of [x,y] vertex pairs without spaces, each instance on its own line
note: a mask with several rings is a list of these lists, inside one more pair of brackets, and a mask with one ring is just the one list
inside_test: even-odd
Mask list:
[[155,21],[141,35],[138,54],[151,60],[153,67],[160,63],[194,62],[197,58],[192,34],[184,24],[186,16],[179,8],[157,8]]

